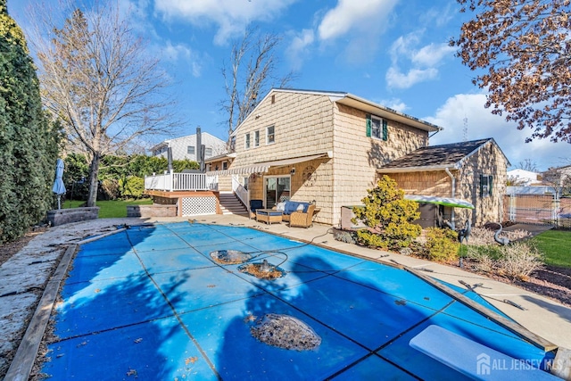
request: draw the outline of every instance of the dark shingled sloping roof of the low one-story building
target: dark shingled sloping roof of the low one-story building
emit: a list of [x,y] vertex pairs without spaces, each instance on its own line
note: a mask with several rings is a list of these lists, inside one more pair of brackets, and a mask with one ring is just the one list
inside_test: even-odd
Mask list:
[[[459,169],[461,163],[476,153],[488,142],[495,144],[492,137],[449,145],[428,145],[389,162],[379,172]],[[508,160],[506,159],[506,162]]]

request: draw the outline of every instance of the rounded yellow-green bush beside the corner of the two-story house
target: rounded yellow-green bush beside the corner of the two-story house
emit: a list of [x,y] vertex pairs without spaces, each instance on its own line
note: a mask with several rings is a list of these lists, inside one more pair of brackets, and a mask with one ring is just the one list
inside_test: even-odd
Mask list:
[[352,222],[360,220],[368,227],[357,233],[359,243],[385,250],[409,247],[422,231],[412,223],[420,217],[418,203],[405,200],[404,191],[386,175],[367,193],[361,200],[364,206],[353,208]]

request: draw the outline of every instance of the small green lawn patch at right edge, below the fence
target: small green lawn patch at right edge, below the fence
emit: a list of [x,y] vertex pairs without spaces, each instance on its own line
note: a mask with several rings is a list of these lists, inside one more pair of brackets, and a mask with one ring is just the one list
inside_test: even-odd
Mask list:
[[545,263],[571,268],[571,231],[547,230],[534,236],[533,242],[545,254]]

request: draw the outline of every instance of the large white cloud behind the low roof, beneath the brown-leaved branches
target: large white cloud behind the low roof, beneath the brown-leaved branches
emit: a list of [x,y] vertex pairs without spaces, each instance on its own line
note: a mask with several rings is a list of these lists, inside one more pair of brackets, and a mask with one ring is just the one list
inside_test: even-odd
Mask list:
[[468,140],[486,137],[500,145],[512,166],[526,159],[535,162],[539,170],[547,170],[551,166],[559,166],[569,160],[569,145],[567,143],[551,143],[549,139],[534,140],[525,143],[525,137],[531,135],[531,130],[518,130],[516,123],[507,122],[504,117],[493,115],[485,109],[484,94],[459,94],[446,101],[432,117],[426,117],[431,123],[444,128],[443,131],[431,137],[431,145],[440,145],[464,140],[464,119],[467,119]]

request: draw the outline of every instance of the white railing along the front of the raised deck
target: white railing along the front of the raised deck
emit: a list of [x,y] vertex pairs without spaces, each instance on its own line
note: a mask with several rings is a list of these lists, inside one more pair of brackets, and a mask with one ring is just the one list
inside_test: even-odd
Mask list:
[[218,190],[218,176],[205,173],[174,173],[145,176],[145,190],[205,191]]

